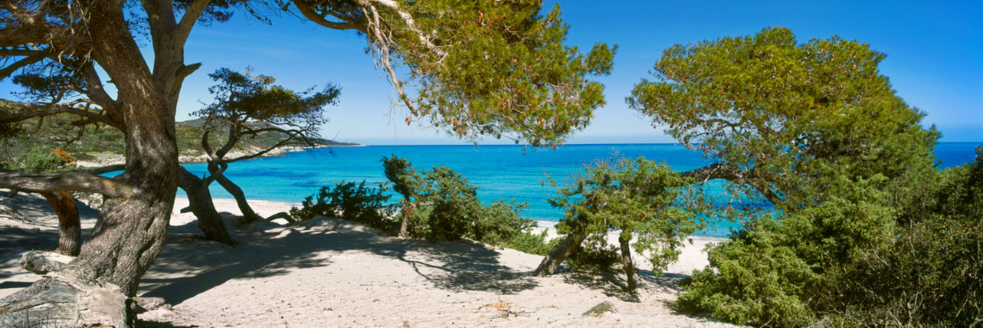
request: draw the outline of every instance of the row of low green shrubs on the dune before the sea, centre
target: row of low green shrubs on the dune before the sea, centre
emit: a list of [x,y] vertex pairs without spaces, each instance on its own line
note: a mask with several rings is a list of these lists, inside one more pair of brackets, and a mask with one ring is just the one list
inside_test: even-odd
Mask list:
[[392,190],[403,195],[399,204],[387,203],[390,196],[384,194],[388,190],[385,184],[371,188],[365,181],[342,181],[308,196],[300,208],[290,210],[291,218],[303,221],[323,215],[397,232],[404,229],[405,219],[405,233],[415,239],[437,242],[468,238],[530,253],[549,251],[547,235],[531,233],[536,221],[521,216],[525,203],[501,199],[483,203],[477,187],[444,166],[417,171],[395,156],[383,158],[383,165]]

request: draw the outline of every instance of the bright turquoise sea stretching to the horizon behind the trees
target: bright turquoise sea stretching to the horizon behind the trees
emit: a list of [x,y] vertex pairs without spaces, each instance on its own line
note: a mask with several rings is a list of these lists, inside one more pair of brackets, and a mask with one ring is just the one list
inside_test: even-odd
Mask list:
[[[980,142],[943,142],[935,148],[939,168],[962,165],[975,158]],[[585,164],[613,156],[663,161],[676,171],[687,171],[710,164],[701,153],[675,143],[565,144],[554,149],[521,145],[371,145],[305,149],[284,156],[263,157],[229,165],[225,175],[245,192],[249,199],[299,203],[323,186],[341,181],[362,182],[377,186],[385,182],[382,157],[396,155],[409,160],[417,169],[446,166],[478,187],[478,197],[525,202],[525,217],[545,223],[556,222],[562,209],[553,208],[547,199],[556,194],[548,177],[559,184],[568,182]],[[205,164],[184,164],[192,173],[202,175]],[[711,185],[711,191],[723,190]],[[183,196],[183,191],[178,191]],[[390,192],[391,193],[391,192]],[[218,184],[211,194],[232,198]],[[397,197],[392,197],[394,201]],[[739,223],[715,220],[697,236],[726,237]]]

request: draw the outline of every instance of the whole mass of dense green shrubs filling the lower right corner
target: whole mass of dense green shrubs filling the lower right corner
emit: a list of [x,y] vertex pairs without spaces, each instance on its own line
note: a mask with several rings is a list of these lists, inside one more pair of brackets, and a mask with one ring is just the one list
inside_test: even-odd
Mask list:
[[[983,149],[940,173],[850,183],[714,246],[675,305],[750,325],[983,323]],[[898,189],[897,186],[904,186]]]

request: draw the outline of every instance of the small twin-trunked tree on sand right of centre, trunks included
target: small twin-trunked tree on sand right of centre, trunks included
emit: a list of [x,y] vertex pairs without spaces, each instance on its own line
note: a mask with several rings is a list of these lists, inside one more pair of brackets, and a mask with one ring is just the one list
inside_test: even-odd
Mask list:
[[549,252],[536,275],[551,274],[587,239],[607,245],[607,234],[619,230],[626,289],[633,292],[637,287],[631,259],[633,235],[638,237],[635,250],[652,252],[652,271],[660,274],[678,259],[677,248],[684,240],[703,226],[694,212],[702,199],[692,197],[695,193],[680,192],[692,184],[692,179],[679,177],[665,164],[645,157],[616,158],[585,165],[584,171],[549,201],[566,209],[556,228],[567,239]]

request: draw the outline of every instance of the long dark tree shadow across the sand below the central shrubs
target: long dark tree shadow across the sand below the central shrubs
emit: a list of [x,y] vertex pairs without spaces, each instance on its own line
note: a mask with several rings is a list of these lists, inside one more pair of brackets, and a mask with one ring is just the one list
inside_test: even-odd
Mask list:
[[[221,213],[226,222],[234,217]],[[502,265],[498,252],[476,243],[428,243],[382,236],[344,220],[316,218],[292,226],[259,222],[251,229],[229,227],[235,248],[196,237],[197,221],[171,227],[167,244],[142,280],[144,297],[177,304],[232,279],[286,274],[331,265],[324,251],[365,251],[398,259],[446,290],[514,294],[538,286],[528,272]],[[372,274],[372,273],[367,273]]]

